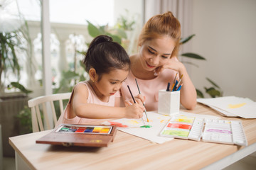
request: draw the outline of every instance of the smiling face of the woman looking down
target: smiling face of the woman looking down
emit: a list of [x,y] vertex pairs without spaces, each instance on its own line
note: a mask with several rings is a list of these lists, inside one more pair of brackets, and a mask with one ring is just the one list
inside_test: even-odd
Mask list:
[[174,39],[167,35],[144,42],[139,51],[142,68],[151,72],[157,67],[168,64],[174,47]]

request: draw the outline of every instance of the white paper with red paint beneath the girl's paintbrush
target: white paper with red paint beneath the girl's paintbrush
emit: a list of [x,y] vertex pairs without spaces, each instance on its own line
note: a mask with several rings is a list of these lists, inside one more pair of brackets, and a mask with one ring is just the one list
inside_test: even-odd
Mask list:
[[[193,114],[193,113],[186,113],[180,111],[181,115],[189,115],[189,116],[195,116],[195,117],[201,117],[201,118],[218,118],[213,115],[199,115],[199,114]],[[178,115],[179,115],[178,114]],[[164,143],[166,141],[170,141],[173,138],[171,137],[161,137],[159,133],[164,128],[166,123],[170,120],[170,116],[167,115],[161,115],[159,113],[155,112],[147,112],[147,116],[149,118],[149,123],[146,122],[146,115],[144,115],[144,122],[146,125],[150,125],[151,128],[143,128],[144,124],[142,122],[142,119],[127,119],[122,118],[118,120],[110,120],[105,121],[102,123],[103,125],[117,125],[117,130],[121,130],[123,132],[127,132],[131,135],[135,135],[137,137],[142,137],[146,140],[150,140],[151,142],[156,143]]]

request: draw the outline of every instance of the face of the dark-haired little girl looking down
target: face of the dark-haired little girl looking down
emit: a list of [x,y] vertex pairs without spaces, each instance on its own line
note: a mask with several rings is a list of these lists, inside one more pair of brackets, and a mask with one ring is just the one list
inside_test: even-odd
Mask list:
[[102,74],[100,80],[98,80],[98,76],[95,79],[95,92],[97,96],[112,96],[122,86],[122,82],[127,79],[129,74],[129,69],[113,69],[107,74]]

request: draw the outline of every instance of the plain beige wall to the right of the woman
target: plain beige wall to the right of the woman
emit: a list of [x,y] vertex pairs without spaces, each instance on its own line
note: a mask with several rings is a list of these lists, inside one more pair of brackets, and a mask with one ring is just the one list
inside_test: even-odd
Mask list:
[[[224,96],[256,101],[256,1],[193,0],[192,52],[207,61],[192,62],[191,79],[196,88],[210,87],[209,77]],[[206,96],[209,97],[209,96]]]

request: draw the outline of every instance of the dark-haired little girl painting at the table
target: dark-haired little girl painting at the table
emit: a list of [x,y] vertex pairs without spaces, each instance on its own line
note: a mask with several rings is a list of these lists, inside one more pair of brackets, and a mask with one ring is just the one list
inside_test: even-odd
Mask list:
[[[92,40],[83,60],[90,80],[76,84],[60,123],[88,123],[93,119],[142,118],[144,106],[138,102],[119,106],[119,89],[127,79],[130,61],[127,52],[107,35]],[[56,126],[57,126],[56,125]]]

